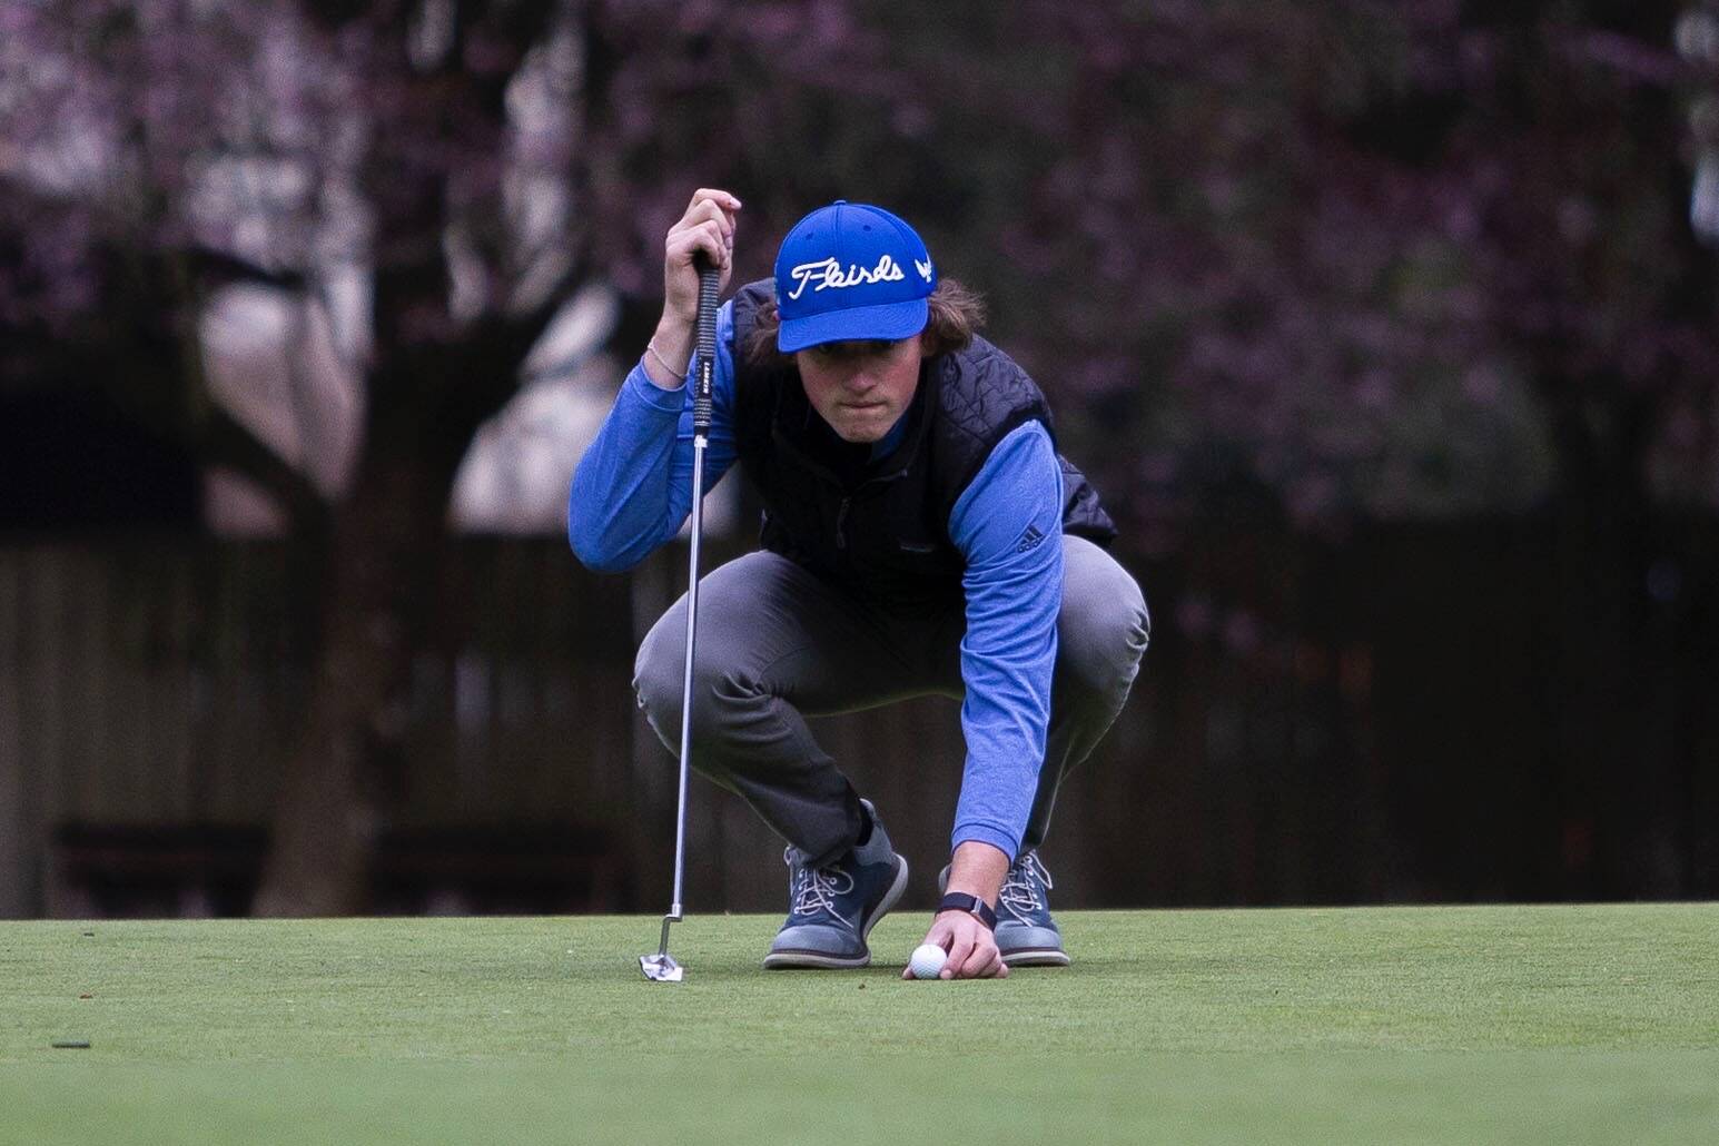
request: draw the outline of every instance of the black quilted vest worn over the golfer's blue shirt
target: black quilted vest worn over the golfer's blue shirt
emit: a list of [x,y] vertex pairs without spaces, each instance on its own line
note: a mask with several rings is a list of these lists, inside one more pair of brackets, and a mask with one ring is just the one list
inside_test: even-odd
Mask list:
[[[806,400],[792,363],[748,363],[744,347],[767,278],[734,296],[734,438],[741,469],[763,498],[763,548],[884,601],[956,601],[966,560],[949,539],[949,512],[992,448],[1028,421],[1050,423],[1043,393],[983,338],[925,359],[906,431],[863,466]],[[1062,464],[1062,529],[1100,545],[1116,526],[1086,478]]]

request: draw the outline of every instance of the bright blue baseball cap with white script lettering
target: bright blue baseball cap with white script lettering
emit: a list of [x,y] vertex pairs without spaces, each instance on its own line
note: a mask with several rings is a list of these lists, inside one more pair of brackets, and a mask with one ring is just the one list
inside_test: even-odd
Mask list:
[[835,203],[789,229],[775,256],[782,354],[925,330],[937,268],[920,235],[880,206]]

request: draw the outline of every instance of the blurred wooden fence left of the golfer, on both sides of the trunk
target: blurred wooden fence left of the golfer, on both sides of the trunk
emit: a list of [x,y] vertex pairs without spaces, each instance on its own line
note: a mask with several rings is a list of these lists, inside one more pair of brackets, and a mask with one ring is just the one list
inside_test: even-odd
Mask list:
[[[160,828],[180,849],[263,832],[313,655],[289,557],[175,538],[0,550],[0,914],[83,902],[55,864],[67,830]],[[462,543],[413,672],[394,832],[605,828],[627,808],[629,661],[624,579],[581,576],[564,546]]]

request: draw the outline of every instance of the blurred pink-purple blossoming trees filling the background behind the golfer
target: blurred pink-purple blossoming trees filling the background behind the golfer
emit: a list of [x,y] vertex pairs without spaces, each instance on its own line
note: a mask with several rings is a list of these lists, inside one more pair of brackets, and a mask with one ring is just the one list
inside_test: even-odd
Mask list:
[[[1719,572],[1716,27],[1688,0],[7,0],[0,393],[14,459],[58,459],[14,462],[9,521],[125,524],[29,485],[69,393],[239,476],[315,665],[260,907],[361,907],[473,443],[545,380],[612,387],[694,187],[746,201],[744,277],[806,210],[877,201],[985,292],[1129,560],[1181,562],[1160,644],[1289,624],[1226,588],[1250,531],[1339,560],[1392,522],[1525,531],[1556,572],[1537,751],[1587,808],[1664,720],[1652,682],[1710,663],[1666,634],[1710,632]],[[280,402],[211,359],[244,299],[291,320]],[[103,454],[86,485],[174,486]],[[174,490],[156,515],[208,519]],[[1679,735],[1686,802],[1712,742]]]

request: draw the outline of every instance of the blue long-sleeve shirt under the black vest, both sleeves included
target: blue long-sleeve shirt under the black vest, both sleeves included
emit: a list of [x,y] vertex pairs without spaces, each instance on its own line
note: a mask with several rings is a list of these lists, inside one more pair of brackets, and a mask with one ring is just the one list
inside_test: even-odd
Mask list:
[[[732,342],[732,304],[725,304],[717,314],[707,491],[736,457]],[[664,390],[643,366],[621,385],[567,502],[567,538],[588,567],[631,569],[674,538],[691,512],[689,392]],[[880,448],[889,445],[885,438]],[[978,840],[1011,859],[1021,847],[1050,718],[1061,536],[1062,471],[1045,428],[1025,423],[997,443],[949,514],[949,538],[966,558],[968,622],[961,641],[966,766],[952,847]]]

